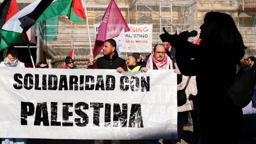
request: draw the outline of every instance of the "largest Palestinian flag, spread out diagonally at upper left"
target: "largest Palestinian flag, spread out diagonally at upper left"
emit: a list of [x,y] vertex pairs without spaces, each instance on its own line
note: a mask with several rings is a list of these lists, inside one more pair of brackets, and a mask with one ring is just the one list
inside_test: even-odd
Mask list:
[[15,39],[34,24],[57,15],[67,15],[76,22],[86,20],[81,0],[36,0],[2,26],[0,50],[15,43]]

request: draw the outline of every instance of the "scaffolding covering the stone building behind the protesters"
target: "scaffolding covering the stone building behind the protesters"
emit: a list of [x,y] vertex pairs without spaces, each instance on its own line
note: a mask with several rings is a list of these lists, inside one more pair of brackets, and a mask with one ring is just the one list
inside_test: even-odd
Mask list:
[[[128,24],[153,24],[152,47],[161,43],[159,35],[163,32],[163,27],[171,34],[183,30],[199,32],[206,12],[219,11],[230,14],[243,36],[244,44],[248,47],[247,57],[256,55],[256,2],[254,1],[116,0],[116,3]],[[100,23],[109,2],[110,0],[86,0],[92,47],[96,39],[94,24]],[[40,47],[45,54],[38,60],[46,58],[51,61],[53,68],[59,68],[72,46],[76,45],[75,64],[80,68],[86,68],[90,54],[86,22],[72,22],[66,16],[58,16],[55,18],[55,23],[51,23],[50,20],[41,22],[37,34],[38,48]],[[189,40],[194,41],[197,38],[198,36],[191,37]]]

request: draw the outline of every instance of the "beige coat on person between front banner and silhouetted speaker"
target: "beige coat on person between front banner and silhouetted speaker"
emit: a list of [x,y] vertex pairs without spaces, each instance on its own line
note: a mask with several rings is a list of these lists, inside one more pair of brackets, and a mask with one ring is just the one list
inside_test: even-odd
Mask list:
[[[180,90],[183,90],[185,88],[187,80],[188,80],[188,76],[182,76],[182,82],[180,84],[178,84],[178,86],[181,87]],[[196,76],[191,76],[188,86],[185,90],[185,93],[187,96],[187,102],[186,102],[186,104],[183,104],[182,106],[178,106],[178,112],[198,110],[198,108],[193,108],[192,100],[188,100],[188,97],[190,94],[193,94],[193,95],[197,94]]]

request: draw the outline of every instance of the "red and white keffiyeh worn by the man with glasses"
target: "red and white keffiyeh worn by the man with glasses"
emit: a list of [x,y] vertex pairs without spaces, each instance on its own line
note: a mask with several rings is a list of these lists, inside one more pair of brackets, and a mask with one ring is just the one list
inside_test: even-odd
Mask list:
[[148,68],[149,70],[153,70],[154,69],[153,62],[154,62],[154,64],[156,64],[156,67],[158,70],[168,70],[168,69],[172,70],[173,69],[172,60],[170,59],[170,57],[167,54],[165,54],[164,60],[162,60],[161,62],[156,60],[154,55],[151,54],[148,58],[146,68]]

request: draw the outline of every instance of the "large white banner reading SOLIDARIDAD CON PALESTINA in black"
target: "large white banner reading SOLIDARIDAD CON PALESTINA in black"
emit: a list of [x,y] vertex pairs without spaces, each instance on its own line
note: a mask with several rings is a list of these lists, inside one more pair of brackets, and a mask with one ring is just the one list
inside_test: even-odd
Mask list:
[[173,70],[0,68],[0,137],[177,138]]

